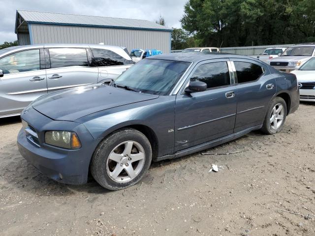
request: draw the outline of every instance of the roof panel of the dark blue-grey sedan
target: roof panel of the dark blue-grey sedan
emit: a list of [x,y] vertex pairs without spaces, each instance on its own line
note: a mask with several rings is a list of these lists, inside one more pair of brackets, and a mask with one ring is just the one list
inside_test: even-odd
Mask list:
[[248,56],[241,56],[236,54],[228,53],[169,53],[169,54],[160,54],[156,56],[151,56],[147,59],[161,59],[161,60],[175,60],[175,61],[185,61],[185,62],[199,62],[202,60],[208,59],[220,59],[220,58],[241,58],[241,59],[253,59]]

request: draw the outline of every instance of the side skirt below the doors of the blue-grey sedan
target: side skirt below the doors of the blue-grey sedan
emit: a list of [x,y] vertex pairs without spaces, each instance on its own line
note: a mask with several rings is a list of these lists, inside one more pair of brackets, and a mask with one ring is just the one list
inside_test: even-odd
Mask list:
[[174,154],[171,154],[171,155],[159,156],[154,161],[161,161],[161,160],[166,160],[166,159],[174,159],[174,158],[178,158],[178,157],[189,155],[189,154],[194,153],[194,152],[202,151],[202,150],[205,150],[205,149],[208,149],[208,148],[213,148],[215,146],[218,146],[218,145],[224,144],[226,142],[229,142],[231,140],[237,139],[237,138],[239,138],[239,137],[241,137],[241,136],[243,136],[245,134],[250,133],[253,130],[260,129],[261,127],[262,127],[262,124],[261,125],[256,125],[256,126],[253,126],[251,128],[247,128],[247,129],[244,129],[242,131],[239,131],[237,133],[233,133],[233,134],[221,137],[219,139],[215,139],[215,140],[212,140],[212,141],[209,141],[209,142],[206,142],[206,143],[203,143],[203,144],[199,144],[199,145],[191,147],[191,148],[186,148],[186,149],[180,150],[180,151],[178,151],[178,152],[176,152]]

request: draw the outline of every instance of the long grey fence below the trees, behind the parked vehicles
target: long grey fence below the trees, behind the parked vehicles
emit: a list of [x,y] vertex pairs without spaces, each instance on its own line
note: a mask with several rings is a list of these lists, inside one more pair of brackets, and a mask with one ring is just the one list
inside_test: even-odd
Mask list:
[[233,53],[237,55],[250,56],[259,55],[263,53],[266,48],[287,48],[293,44],[282,44],[282,45],[263,45],[263,46],[249,46],[249,47],[230,47],[221,48],[221,53]]

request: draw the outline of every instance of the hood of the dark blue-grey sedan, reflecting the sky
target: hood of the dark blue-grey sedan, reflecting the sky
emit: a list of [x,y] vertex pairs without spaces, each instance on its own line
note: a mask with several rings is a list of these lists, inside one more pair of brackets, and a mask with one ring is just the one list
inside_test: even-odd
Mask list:
[[97,84],[50,93],[32,102],[32,107],[55,120],[74,121],[102,110],[155,98],[158,95]]

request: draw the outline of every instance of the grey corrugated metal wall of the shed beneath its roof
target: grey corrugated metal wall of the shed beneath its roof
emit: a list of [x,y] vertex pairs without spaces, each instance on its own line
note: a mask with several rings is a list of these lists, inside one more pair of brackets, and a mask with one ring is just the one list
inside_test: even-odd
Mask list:
[[67,25],[29,24],[32,44],[38,43],[93,43],[125,46],[131,49],[157,49],[170,52],[170,31],[114,29]]

